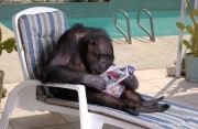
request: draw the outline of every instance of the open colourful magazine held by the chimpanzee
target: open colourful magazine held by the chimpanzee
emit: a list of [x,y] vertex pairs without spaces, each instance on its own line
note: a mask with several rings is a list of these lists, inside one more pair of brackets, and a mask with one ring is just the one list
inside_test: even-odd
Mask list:
[[120,98],[125,89],[125,86],[121,85],[120,82],[133,74],[133,66],[125,66],[122,68],[118,68],[113,65],[110,66],[103,74],[100,75],[107,82],[107,89],[103,92],[113,97]]

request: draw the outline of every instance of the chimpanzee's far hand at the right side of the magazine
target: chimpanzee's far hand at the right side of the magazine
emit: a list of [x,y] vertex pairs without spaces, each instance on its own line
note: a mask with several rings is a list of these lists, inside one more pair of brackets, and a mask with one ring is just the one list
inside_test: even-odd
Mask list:
[[139,87],[139,80],[134,74],[127,77],[122,83],[131,90],[135,90]]

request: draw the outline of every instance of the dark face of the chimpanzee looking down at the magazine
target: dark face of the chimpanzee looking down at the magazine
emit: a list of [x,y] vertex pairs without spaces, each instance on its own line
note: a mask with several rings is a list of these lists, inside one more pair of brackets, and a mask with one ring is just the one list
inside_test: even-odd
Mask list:
[[113,47],[111,40],[107,35],[90,37],[87,49],[87,63],[91,74],[102,74],[113,65]]

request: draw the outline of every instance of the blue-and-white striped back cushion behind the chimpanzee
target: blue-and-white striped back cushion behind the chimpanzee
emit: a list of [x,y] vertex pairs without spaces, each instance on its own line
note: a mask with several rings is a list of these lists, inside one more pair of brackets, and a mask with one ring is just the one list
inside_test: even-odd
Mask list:
[[[67,18],[62,11],[25,14],[19,19],[19,28],[30,77],[38,79],[42,65],[68,28]],[[53,97],[52,89],[40,86],[36,93]]]

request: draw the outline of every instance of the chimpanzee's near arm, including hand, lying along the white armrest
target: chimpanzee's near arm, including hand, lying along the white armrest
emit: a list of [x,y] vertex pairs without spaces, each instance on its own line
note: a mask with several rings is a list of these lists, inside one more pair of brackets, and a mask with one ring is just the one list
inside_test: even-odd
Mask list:
[[99,92],[106,89],[106,82],[98,75],[82,72],[75,72],[63,66],[48,66],[42,71],[41,80],[43,83],[68,83],[82,84]]

